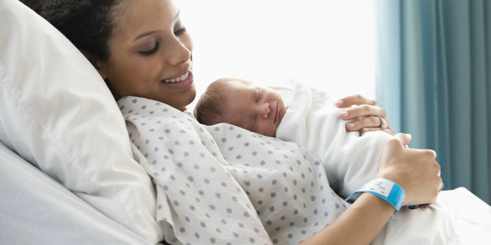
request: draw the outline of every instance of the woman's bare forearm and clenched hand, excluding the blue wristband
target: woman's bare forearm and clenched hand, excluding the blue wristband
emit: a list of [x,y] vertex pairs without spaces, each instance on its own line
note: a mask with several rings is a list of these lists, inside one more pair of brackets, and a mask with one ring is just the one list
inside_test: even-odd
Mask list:
[[[441,187],[440,166],[431,150],[406,149],[407,134],[387,141],[378,174],[406,192],[403,205],[434,203]],[[302,244],[369,244],[384,227],[395,208],[385,200],[363,193],[333,223]]]

